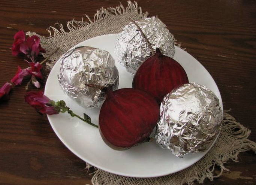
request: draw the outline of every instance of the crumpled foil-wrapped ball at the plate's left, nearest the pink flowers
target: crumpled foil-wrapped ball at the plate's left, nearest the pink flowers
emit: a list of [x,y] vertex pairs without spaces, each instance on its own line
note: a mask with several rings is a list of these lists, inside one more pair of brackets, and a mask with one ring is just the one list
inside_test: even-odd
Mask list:
[[82,46],[71,49],[61,58],[58,81],[63,91],[83,107],[99,107],[105,93],[87,84],[118,88],[119,76],[109,52]]

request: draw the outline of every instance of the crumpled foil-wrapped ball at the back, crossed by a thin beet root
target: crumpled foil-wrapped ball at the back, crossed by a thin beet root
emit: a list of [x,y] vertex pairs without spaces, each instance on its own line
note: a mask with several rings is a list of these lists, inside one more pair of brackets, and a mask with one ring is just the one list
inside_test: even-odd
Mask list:
[[[159,48],[162,54],[168,57],[174,56],[174,36],[160,19],[150,17],[136,22],[155,51]],[[139,66],[152,55],[148,43],[145,42],[134,23],[130,22],[126,25],[118,35],[115,55],[118,61],[132,74],[135,74]]]

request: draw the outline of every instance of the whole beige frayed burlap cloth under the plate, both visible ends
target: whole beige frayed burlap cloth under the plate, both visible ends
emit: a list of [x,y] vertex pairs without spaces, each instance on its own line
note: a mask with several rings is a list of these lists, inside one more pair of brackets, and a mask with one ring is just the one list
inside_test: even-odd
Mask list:
[[[67,22],[68,32],[64,31],[63,25],[56,24],[48,29],[49,37],[42,37],[31,32],[27,34],[37,35],[41,38],[41,45],[47,51],[44,57],[48,57],[52,51],[60,48],[57,53],[50,57],[51,62],[47,63],[48,69],[51,69],[58,58],[72,46],[92,37],[120,33],[124,25],[130,22],[130,18],[138,20],[147,15],[147,12],[142,13],[141,7],[138,7],[136,2],[128,1],[126,8],[120,4],[116,8],[109,7],[108,9],[101,8],[97,10],[93,20],[86,16],[88,22],[83,19],[82,21],[72,20]],[[214,177],[220,176],[223,170],[228,170],[224,167],[226,161],[230,159],[237,161],[240,152],[250,149],[256,152],[256,143],[247,139],[249,135],[250,130],[248,128],[236,122],[228,113],[224,113],[222,129],[216,143],[201,160],[187,169],[158,178],[130,178],[96,169],[91,182],[100,185],[180,185],[184,183],[192,184],[195,180],[202,183],[205,178],[213,180]],[[221,169],[219,174],[214,174],[216,166]],[[88,167],[91,167],[90,164],[87,164]]]

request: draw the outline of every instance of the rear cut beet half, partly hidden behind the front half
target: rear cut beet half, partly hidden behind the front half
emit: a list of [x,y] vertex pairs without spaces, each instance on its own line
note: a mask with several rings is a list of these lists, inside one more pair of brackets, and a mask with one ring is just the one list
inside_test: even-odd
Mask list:
[[157,49],[137,70],[132,87],[150,93],[161,103],[166,94],[187,83],[189,79],[183,67]]

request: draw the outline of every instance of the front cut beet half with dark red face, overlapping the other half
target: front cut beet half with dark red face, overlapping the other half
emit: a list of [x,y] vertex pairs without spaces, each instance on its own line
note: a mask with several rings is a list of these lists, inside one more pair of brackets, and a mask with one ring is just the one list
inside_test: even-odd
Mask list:
[[113,149],[128,149],[147,139],[159,120],[160,108],[150,94],[132,88],[107,90],[100,108],[99,129]]

